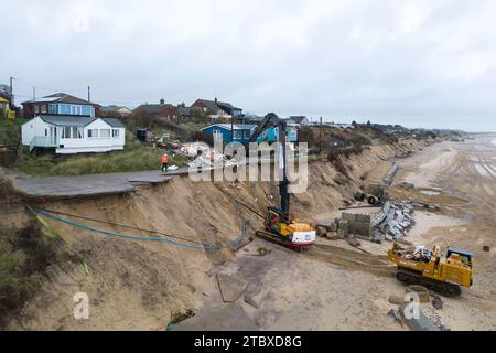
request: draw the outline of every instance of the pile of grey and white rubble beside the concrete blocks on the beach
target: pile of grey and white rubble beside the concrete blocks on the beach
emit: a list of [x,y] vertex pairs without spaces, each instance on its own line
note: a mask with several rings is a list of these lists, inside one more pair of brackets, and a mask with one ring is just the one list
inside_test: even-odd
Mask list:
[[382,210],[370,221],[374,229],[371,240],[402,240],[407,232],[414,225],[413,206],[410,202],[386,202]]

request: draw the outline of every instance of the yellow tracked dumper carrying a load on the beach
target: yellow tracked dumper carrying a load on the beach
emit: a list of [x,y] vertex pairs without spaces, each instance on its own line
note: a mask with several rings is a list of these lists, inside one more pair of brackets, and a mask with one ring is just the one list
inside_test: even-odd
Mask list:
[[388,252],[388,259],[398,266],[398,280],[450,297],[460,296],[461,286],[472,286],[472,253],[454,247],[448,247],[446,256],[441,256],[438,245],[431,250],[423,246],[403,248],[393,243]]

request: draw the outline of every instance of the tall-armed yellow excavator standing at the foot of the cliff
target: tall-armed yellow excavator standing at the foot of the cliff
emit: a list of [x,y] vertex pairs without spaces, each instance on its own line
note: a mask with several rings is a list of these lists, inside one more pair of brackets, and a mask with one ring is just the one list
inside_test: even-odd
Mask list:
[[267,208],[265,216],[265,231],[258,231],[257,236],[267,239],[269,242],[289,247],[294,250],[301,250],[301,248],[309,247],[315,243],[315,228],[308,224],[301,223],[296,218],[293,218],[290,213],[290,194],[288,192],[289,180],[287,175],[287,124],[280,119],[276,114],[269,113],[257,129],[251,135],[250,139],[246,143],[256,142],[258,137],[268,128],[277,128],[278,139],[274,143],[278,143],[278,158],[279,163],[279,194],[281,199],[280,207],[270,206]]

